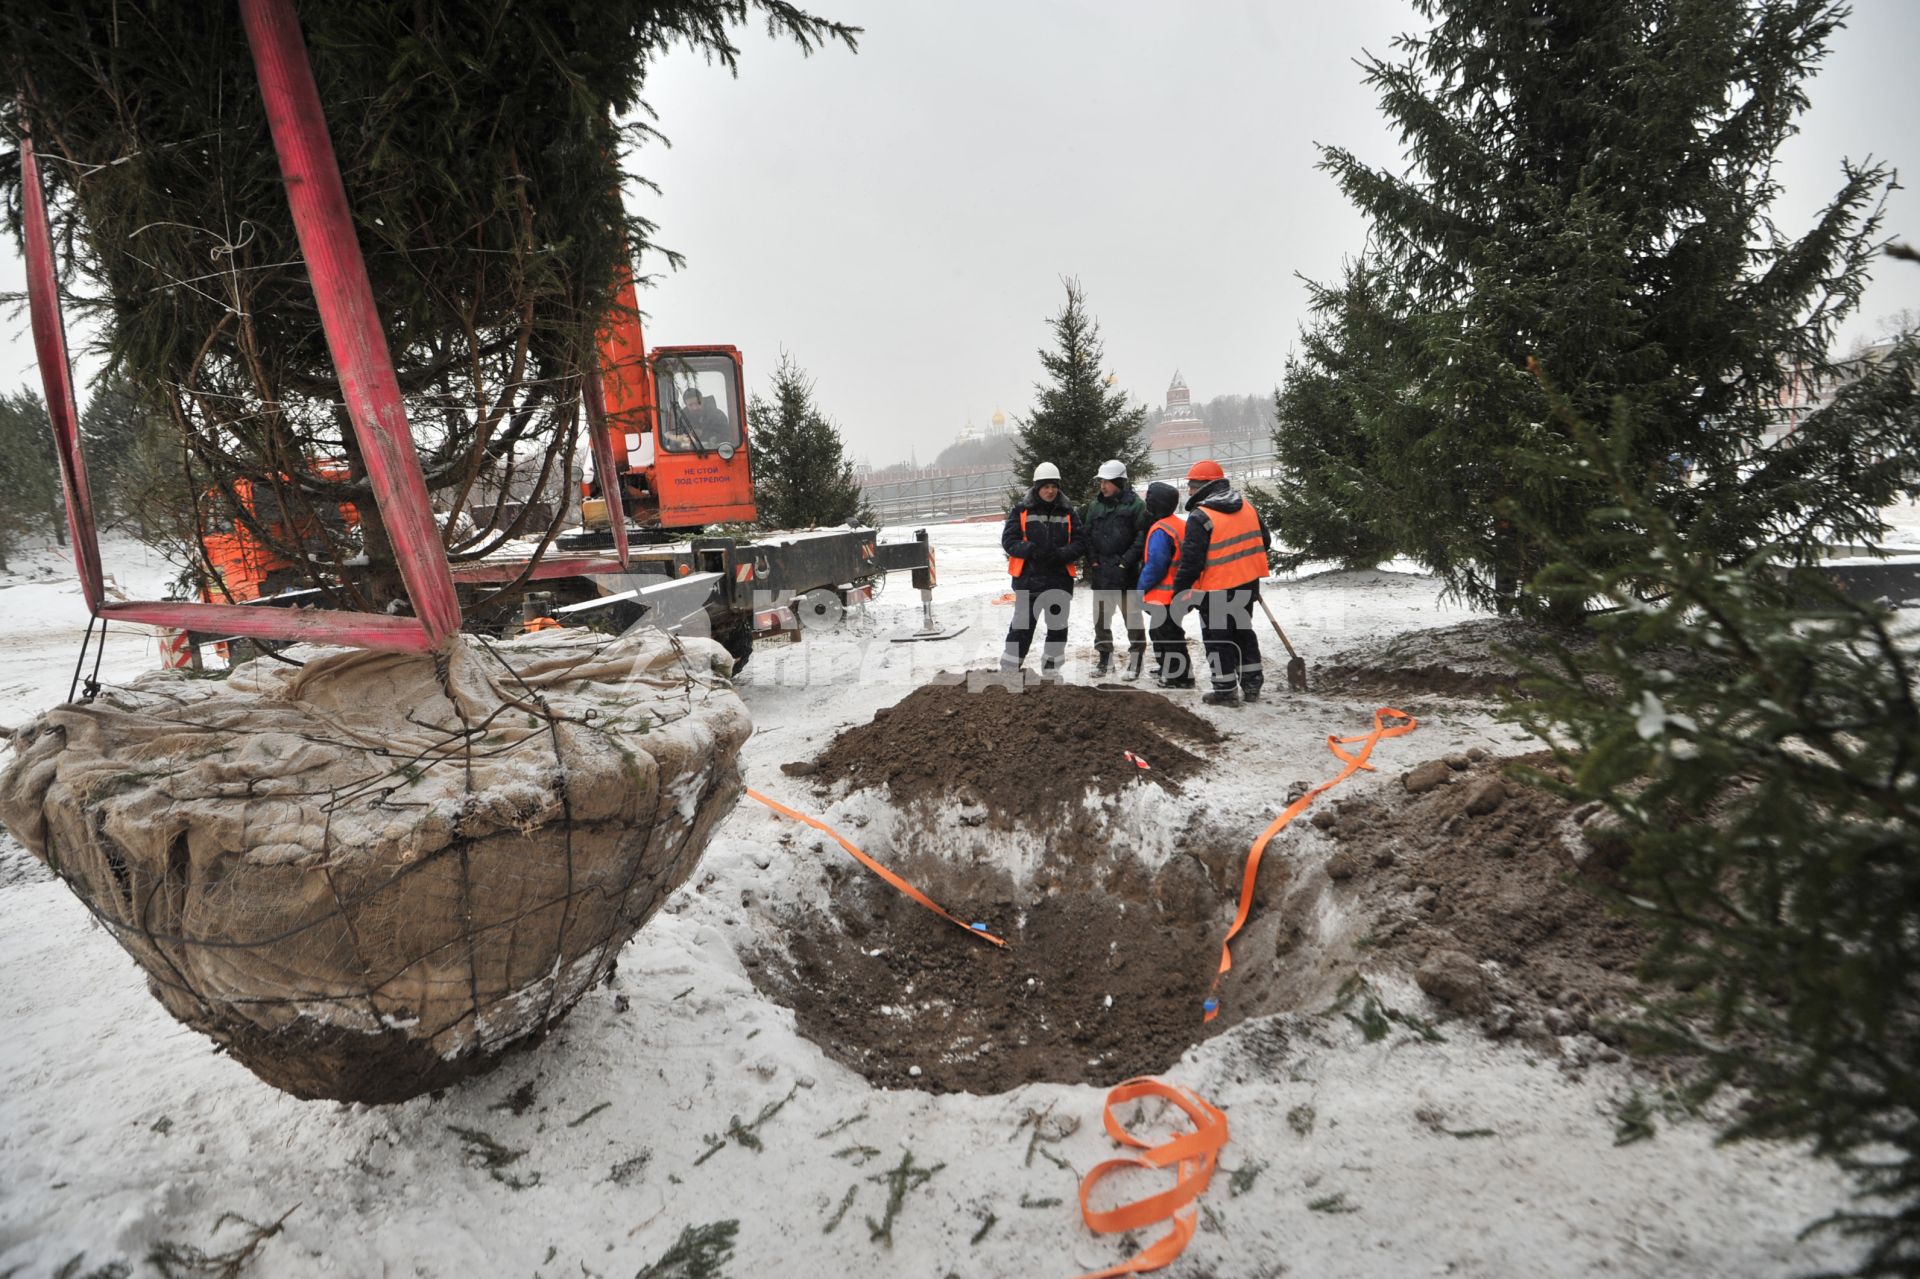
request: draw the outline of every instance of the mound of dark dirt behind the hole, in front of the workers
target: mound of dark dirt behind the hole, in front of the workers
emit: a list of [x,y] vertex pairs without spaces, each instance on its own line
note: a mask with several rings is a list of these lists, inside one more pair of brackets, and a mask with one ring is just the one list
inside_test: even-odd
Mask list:
[[822,787],[885,787],[897,803],[964,799],[1000,824],[1029,824],[1089,791],[1179,789],[1206,766],[1190,747],[1219,739],[1192,711],[1140,689],[943,674],[785,772]]

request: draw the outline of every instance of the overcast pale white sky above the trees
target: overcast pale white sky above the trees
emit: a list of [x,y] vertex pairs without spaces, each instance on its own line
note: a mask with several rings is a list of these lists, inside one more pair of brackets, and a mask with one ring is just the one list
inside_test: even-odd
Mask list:
[[[1108,367],[1146,403],[1175,369],[1196,399],[1267,394],[1327,278],[1365,236],[1315,142],[1398,165],[1354,60],[1417,25],[1404,0],[812,0],[866,27],[803,58],[755,29],[737,79],[691,54],[647,98],[672,148],[630,192],[685,253],[641,298],[655,344],[732,342],[749,384],[781,350],[856,457],[929,461],[972,417],[1025,413],[1037,348],[1077,275]],[[1857,0],[1782,156],[1786,230],[1868,154],[1920,181],[1920,0]],[[1887,230],[1920,242],[1920,198]],[[1847,340],[1920,309],[1884,263]],[[19,288],[8,246],[0,288]],[[33,376],[0,325],[0,386]],[[84,380],[84,369],[81,371]]]

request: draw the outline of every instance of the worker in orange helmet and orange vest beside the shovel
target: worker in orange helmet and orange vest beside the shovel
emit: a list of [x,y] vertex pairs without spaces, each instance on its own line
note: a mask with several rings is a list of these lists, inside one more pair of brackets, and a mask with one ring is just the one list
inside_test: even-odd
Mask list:
[[1256,701],[1267,676],[1260,666],[1254,609],[1260,580],[1267,576],[1273,534],[1260,513],[1227,486],[1227,472],[1217,461],[1192,465],[1187,494],[1187,536],[1173,570],[1173,597],[1200,609],[1200,641],[1213,672],[1213,689],[1202,701],[1223,707],[1236,705],[1240,697]]

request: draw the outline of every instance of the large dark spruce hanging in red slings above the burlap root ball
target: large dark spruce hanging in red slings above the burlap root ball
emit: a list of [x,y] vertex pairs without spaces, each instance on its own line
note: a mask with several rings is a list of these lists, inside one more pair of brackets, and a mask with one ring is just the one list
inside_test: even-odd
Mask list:
[[[374,305],[453,559],[559,532],[582,384],[624,269],[653,227],[620,204],[655,136],[651,65],[685,46],[728,69],[764,23],[803,50],[856,29],[789,0],[334,0],[300,25]],[[232,4],[0,4],[0,134],[31,127],[75,309],[108,367],[165,411],[221,515],[296,563],[286,530],[359,507],[332,603],[399,591],[294,234],[259,77]],[[0,194],[19,209],[17,157]],[[17,227],[15,227],[17,230]],[[346,478],[321,461],[344,461]],[[255,519],[240,501],[292,519]],[[465,519],[486,509],[480,519]],[[344,534],[342,534],[344,538]],[[503,588],[518,590],[520,584]],[[470,607],[486,609],[486,595]]]

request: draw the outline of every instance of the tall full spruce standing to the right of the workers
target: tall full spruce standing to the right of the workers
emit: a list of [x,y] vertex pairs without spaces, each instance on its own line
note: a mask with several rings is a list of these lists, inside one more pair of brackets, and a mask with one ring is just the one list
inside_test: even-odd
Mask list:
[[[1361,350],[1309,351],[1294,371],[1344,376],[1379,359],[1404,373],[1361,421],[1363,488],[1396,505],[1398,549],[1476,603],[1542,603],[1526,582],[1548,545],[1603,505],[1597,480],[1538,465],[1572,455],[1548,388],[1574,417],[1630,432],[1630,465],[1703,549],[1809,557],[1822,536],[1872,536],[1891,490],[1855,488],[1853,440],[1799,432],[1761,457],[1782,394],[1828,371],[1891,182],[1845,163],[1805,234],[1768,217],[1774,156],[1845,8],[1415,8],[1432,27],[1363,63],[1411,169],[1323,148],[1373,223],[1390,311],[1342,334]],[[1281,430],[1317,428],[1292,415]],[[1300,482],[1352,486],[1352,449],[1325,451],[1334,469]],[[1296,536],[1284,519],[1279,532]]]

